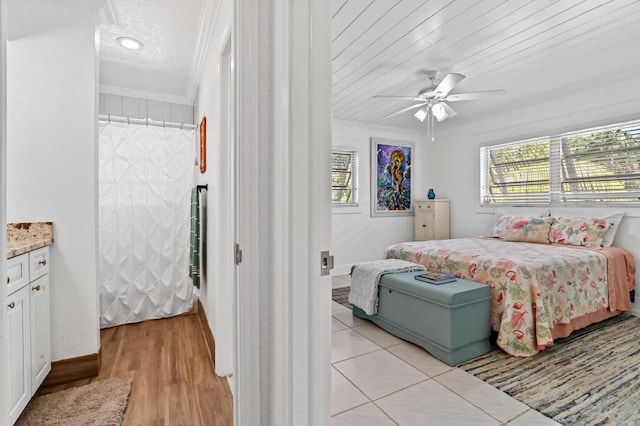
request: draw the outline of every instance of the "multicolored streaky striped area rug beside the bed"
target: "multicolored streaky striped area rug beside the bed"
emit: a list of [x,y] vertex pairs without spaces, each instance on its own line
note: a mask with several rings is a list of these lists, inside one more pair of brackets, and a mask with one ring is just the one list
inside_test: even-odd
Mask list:
[[628,314],[530,358],[496,349],[459,367],[563,425],[640,424],[640,318]]

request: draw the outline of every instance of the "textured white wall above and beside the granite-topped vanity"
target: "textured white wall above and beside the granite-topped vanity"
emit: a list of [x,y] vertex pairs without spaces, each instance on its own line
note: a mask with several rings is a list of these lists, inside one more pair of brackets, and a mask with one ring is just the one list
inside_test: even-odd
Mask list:
[[98,351],[95,17],[8,43],[7,221],[52,221],[53,360]]

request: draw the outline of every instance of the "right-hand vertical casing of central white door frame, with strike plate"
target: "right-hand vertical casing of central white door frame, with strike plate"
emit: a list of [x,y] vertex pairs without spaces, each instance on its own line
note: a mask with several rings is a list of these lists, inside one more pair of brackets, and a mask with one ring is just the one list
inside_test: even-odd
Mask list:
[[[331,279],[320,252],[331,235],[329,2],[294,0],[289,19],[291,153],[290,425],[326,425],[331,413]],[[276,19],[276,26],[284,22]]]

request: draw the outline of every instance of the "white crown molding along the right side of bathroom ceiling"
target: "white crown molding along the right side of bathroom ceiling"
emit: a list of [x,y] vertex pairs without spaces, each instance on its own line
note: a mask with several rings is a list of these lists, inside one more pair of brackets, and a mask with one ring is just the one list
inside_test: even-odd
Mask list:
[[209,0],[202,3],[195,55],[191,64],[189,81],[187,82],[187,98],[191,100],[191,103],[194,102],[198,90],[202,69],[207,58],[209,44],[211,43],[211,36],[220,15],[221,4],[221,0]]

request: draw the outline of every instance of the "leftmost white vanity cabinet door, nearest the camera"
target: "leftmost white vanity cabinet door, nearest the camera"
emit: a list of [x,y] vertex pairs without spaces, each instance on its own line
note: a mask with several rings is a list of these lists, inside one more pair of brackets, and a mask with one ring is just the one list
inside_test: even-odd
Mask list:
[[32,395],[30,291],[28,285],[16,291],[7,298],[5,307],[9,325],[9,424],[18,419]]

